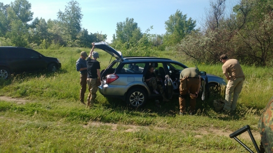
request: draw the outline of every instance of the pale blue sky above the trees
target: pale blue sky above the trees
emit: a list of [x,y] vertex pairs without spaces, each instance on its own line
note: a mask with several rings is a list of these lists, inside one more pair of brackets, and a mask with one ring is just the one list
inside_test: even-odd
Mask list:
[[[64,12],[70,0],[28,0],[31,4],[33,19],[43,18],[57,19],[57,13]],[[234,0],[228,0],[234,1]],[[4,5],[11,4],[10,0],[2,0]],[[197,27],[200,27],[202,19],[205,17],[205,10],[210,8],[209,0],[78,0],[81,13],[81,27],[87,29],[90,33],[107,34],[106,42],[111,42],[115,34],[116,25],[124,22],[126,18],[133,18],[138,23],[144,33],[150,30],[151,34],[164,34],[165,21],[170,15],[180,10],[183,15],[187,14],[187,20],[192,18],[197,21]],[[227,7],[230,2],[227,2]]]

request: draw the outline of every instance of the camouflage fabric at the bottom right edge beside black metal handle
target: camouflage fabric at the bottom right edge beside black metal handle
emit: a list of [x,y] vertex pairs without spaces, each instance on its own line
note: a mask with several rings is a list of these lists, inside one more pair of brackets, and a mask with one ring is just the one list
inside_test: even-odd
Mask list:
[[265,107],[258,128],[265,152],[273,152],[273,97]]

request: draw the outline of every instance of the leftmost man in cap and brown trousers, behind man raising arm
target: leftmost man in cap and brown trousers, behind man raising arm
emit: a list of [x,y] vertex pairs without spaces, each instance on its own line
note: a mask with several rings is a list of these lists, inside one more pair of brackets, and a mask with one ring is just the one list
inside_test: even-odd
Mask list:
[[84,94],[86,91],[86,84],[87,84],[87,65],[85,58],[88,57],[85,51],[80,52],[80,57],[76,61],[76,69],[80,72],[80,102],[85,105],[84,103]]

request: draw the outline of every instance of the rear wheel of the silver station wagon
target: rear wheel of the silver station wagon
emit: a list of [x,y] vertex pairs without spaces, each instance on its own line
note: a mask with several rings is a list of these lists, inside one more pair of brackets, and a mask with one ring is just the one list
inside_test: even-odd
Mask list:
[[133,108],[144,106],[146,101],[147,101],[146,93],[139,88],[130,90],[126,96],[127,105]]

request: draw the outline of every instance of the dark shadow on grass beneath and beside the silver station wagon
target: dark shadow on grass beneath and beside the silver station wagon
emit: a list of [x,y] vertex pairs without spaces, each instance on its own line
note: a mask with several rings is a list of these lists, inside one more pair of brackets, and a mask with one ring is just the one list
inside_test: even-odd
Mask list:
[[[261,110],[257,108],[247,108],[242,107],[240,105],[237,106],[237,112],[235,114],[226,113],[226,112],[215,112],[213,107],[213,100],[216,99],[224,99],[220,95],[217,95],[216,97],[210,97],[208,99],[205,99],[205,101],[201,100],[201,97],[198,97],[196,100],[196,116],[207,116],[209,118],[213,119],[219,119],[219,120],[239,120],[241,118],[244,118],[246,114],[253,114],[253,115],[259,115]],[[142,108],[131,108],[126,105],[124,101],[118,98],[107,98],[108,103],[105,103],[104,106],[107,108],[113,109],[113,111],[131,111],[133,113],[141,112],[152,114],[156,113],[158,116],[166,117],[166,116],[172,116],[175,117],[179,114],[179,100],[178,96],[173,96],[172,99],[169,102],[162,102],[162,99],[159,99],[160,107],[158,107],[155,103],[156,99],[149,99],[146,103],[146,105]],[[186,98],[186,107],[187,111],[190,110],[190,98]]]

